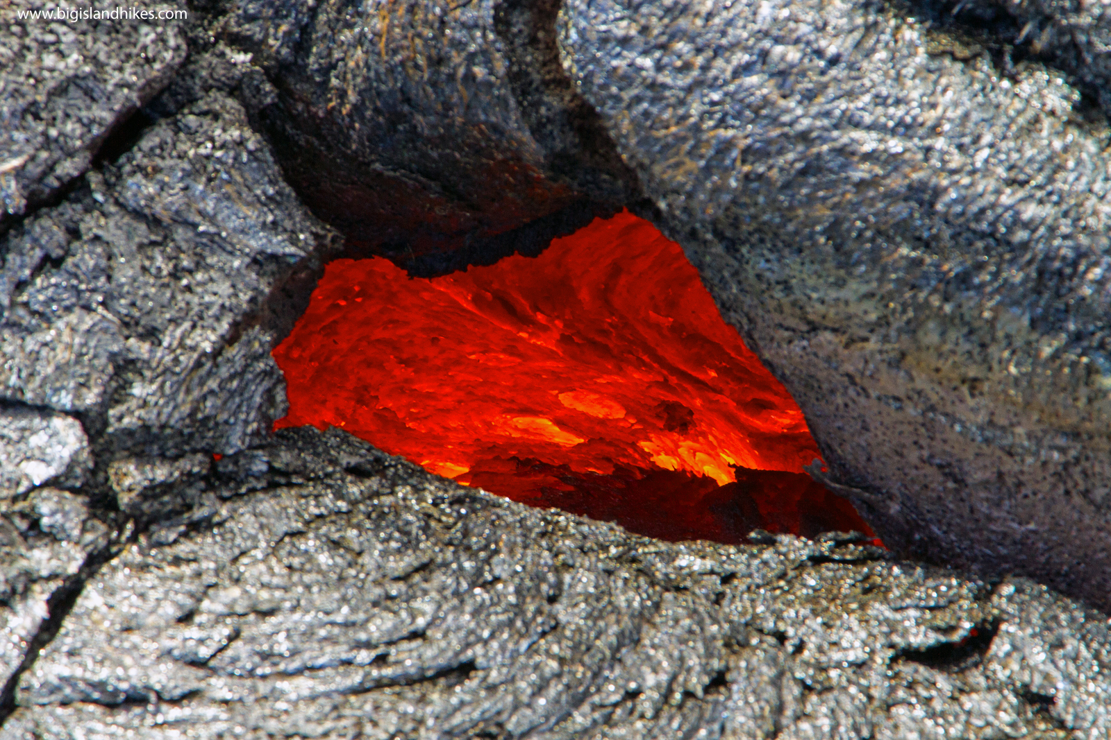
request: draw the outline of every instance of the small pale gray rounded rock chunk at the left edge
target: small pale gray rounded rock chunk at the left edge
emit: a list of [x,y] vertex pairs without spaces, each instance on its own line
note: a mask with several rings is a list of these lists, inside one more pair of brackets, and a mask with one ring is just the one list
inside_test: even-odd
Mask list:
[[0,501],[44,483],[77,488],[92,457],[81,423],[31,408],[0,408]]

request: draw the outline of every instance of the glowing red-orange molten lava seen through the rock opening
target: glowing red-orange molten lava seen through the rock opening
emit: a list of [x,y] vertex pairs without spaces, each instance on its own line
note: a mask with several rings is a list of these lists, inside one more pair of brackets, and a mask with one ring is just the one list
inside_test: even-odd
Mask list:
[[871,536],[802,474],[802,412],[681,247],[629,213],[431,280],[337,260],[273,356],[276,427],[341,427],[514,500],[672,540]]

